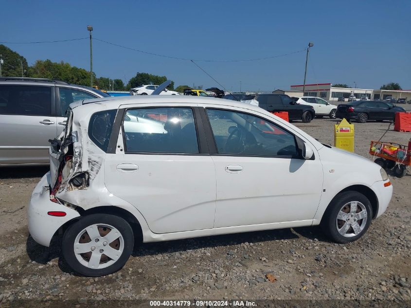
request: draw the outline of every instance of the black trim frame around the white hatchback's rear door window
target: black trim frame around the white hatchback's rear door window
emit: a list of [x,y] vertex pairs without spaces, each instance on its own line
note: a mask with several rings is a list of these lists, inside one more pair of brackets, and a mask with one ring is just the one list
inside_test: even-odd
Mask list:
[[[194,126],[196,128],[196,134],[197,134],[197,145],[198,145],[198,153],[175,153],[175,152],[136,152],[136,151],[127,151],[127,145],[125,143],[125,132],[124,132],[124,115],[126,114],[127,110],[130,109],[165,109],[165,108],[184,108],[184,109],[192,109],[193,111],[193,117],[194,117]],[[117,113],[119,114],[119,113]],[[178,105],[178,106],[142,106],[142,107],[130,107],[130,108],[124,108],[123,115],[121,118],[121,129],[122,129],[122,135],[123,135],[123,145],[124,145],[124,153],[125,154],[134,154],[134,155],[180,155],[180,156],[209,156],[209,148],[207,145],[207,140],[204,135],[204,129],[203,129],[203,123],[200,121],[201,116],[198,111],[198,107],[194,106],[184,106],[184,105]],[[115,119],[114,123],[116,123],[117,118]],[[119,128],[120,128],[119,127]],[[117,129],[116,129],[117,130]],[[111,136],[111,138],[116,138],[116,143],[117,143],[117,137],[120,132],[120,129],[117,130],[117,136]],[[113,149],[110,149],[111,152],[113,152]],[[114,147],[114,152],[115,153],[115,147]]]

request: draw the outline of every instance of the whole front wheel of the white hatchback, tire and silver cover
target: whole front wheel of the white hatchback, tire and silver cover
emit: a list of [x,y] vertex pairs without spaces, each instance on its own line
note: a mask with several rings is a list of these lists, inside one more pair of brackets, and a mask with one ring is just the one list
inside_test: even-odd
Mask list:
[[370,201],[356,191],[338,194],[322,217],[323,232],[337,243],[349,243],[367,232],[373,217]]

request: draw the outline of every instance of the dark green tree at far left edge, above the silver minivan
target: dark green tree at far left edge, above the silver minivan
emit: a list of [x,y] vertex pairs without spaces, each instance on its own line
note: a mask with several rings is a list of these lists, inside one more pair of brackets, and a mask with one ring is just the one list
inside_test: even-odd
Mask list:
[[21,77],[21,64],[23,65],[23,77],[27,77],[29,65],[25,57],[12,51],[7,46],[0,44],[0,54],[4,63],[1,65],[1,75],[5,77]]

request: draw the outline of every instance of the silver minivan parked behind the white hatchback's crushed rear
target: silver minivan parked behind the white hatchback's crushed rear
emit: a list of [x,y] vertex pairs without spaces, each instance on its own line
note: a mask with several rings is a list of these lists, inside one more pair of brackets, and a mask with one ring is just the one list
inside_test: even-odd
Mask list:
[[0,77],[0,166],[49,163],[49,139],[66,124],[73,101],[107,93],[64,81]]

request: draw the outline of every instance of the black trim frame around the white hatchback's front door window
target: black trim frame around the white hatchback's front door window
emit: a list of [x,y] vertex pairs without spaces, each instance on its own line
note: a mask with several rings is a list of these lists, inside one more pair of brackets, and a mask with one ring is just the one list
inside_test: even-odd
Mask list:
[[[208,143],[210,144],[210,143],[212,143],[213,145],[214,145],[214,151],[212,152],[212,151],[210,151],[210,154],[212,155],[212,156],[233,156],[233,157],[259,157],[259,158],[284,158],[284,159],[301,159],[301,160],[305,160],[304,158],[303,158],[303,156],[302,156],[302,153],[301,153],[301,151],[300,151],[300,149],[299,149],[299,143],[297,142],[297,138],[299,138],[301,141],[303,141],[299,136],[297,136],[297,135],[295,135],[294,133],[292,133],[291,131],[289,131],[288,129],[286,129],[285,127],[282,127],[282,126],[279,126],[278,124],[275,124],[273,121],[271,121],[271,120],[269,120],[269,119],[267,119],[267,118],[265,118],[265,117],[262,117],[262,116],[260,116],[260,115],[256,115],[256,114],[253,114],[253,113],[250,113],[250,112],[246,112],[246,111],[243,111],[243,110],[237,110],[237,109],[231,109],[231,108],[217,108],[217,107],[205,107],[205,108],[203,108],[204,109],[204,112],[205,112],[205,116],[206,116],[206,119],[207,119],[207,124],[208,124],[208,126],[209,126],[209,129],[210,129],[210,132],[211,132],[211,136],[210,136],[210,134],[206,134],[206,136],[207,136],[207,138],[208,138]],[[214,109],[214,110],[225,110],[225,111],[232,111],[232,112],[239,112],[239,113],[244,113],[244,114],[247,114],[247,115],[251,115],[251,116],[254,116],[254,117],[259,117],[259,118],[261,118],[261,119],[264,119],[265,121],[267,121],[268,123],[271,123],[271,124],[273,124],[273,125],[275,125],[276,127],[279,127],[280,129],[283,129],[283,130],[285,130],[286,132],[288,132],[289,134],[291,134],[292,136],[294,136],[294,142],[295,142],[295,146],[296,146],[296,149],[297,149],[297,152],[298,152],[298,155],[297,156],[293,156],[293,155],[243,155],[243,154],[221,154],[221,153],[218,153],[218,150],[217,150],[217,143],[215,142],[215,138],[214,138],[214,133],[213,133],[213,129],[212,129],[212,127],[211,127],[211,123],[210,123],[210,119],[209,119],[209,117],[208,117],[208,114],[207,114],[207,109]],[[303,141],[304,142],[304,141]],[[315,155],[313,155],[313,157],[312,157],[312,160],[314,160],[315,159]]]

